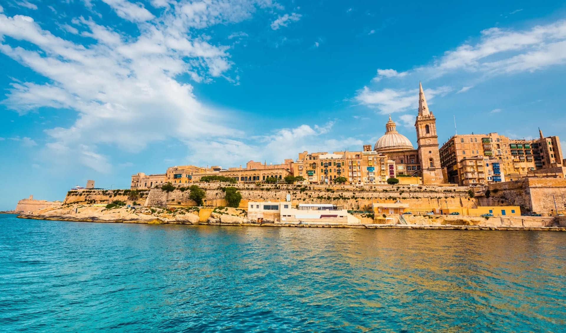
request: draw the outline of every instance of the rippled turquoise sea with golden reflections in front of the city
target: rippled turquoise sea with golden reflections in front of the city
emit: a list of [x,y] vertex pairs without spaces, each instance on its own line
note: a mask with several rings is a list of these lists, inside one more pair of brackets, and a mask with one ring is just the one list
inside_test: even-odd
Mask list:
[[2,332],[565,332],[566,232],[0,215]]

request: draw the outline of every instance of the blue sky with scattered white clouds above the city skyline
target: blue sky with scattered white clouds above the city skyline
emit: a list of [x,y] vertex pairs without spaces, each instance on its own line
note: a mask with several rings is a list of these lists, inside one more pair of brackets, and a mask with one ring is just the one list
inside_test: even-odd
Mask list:
[[388,116],[415,145],[561,137],[561,1],[0,1],[0,210],[175,165],[361,150]]

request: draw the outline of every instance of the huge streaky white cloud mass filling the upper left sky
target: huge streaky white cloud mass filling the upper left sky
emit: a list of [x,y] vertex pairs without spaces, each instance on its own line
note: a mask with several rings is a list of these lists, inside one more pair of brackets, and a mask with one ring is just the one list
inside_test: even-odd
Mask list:
[[0,14],[0,52],[50,82],[14,81],[2,103],[20,114],[44,106],[76,112],[71,126],[45,131],[46,160],[109,172],[112,166],[102,149],[139,152],[155,141],[240,134],[224,126],[229,114],[200,103],[192,85],[176,78],[231,80],[229,47],[210,44],[196,29],[241,21],[269,6],[268,1],[243,0],[239,6],[227,0],[208,5],[183,1],[154,20],[142,5],[105,2],[138,25],[139,36],[80,17],[72,24],[91,40],[83,45],[42,29],[29,16]]

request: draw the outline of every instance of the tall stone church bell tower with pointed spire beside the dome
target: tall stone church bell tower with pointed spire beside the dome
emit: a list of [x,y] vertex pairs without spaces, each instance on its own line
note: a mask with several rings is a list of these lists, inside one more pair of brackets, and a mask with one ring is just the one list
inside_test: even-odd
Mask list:
[[438,152],[438,135],[436,135],[436,118],[426,103],[423,86],[419,82],[419,114],[415,122],[417,129],[417,150],[421,163],[423,184],[445,183],[440,154]]

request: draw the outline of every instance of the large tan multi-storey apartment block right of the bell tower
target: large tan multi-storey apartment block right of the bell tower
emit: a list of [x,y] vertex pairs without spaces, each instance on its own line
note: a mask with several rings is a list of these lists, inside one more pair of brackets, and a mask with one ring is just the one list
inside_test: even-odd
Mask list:
[[559,137],[544,137],[542,131],[539,136],[539,139],[518,140],[496,132],[454,135],[440,148],[440,163],[447,172],[448,182],[460,185],[473,178],[467,178],[471,175],[458,163],[473,156],[498,159],[501,175],[509,181],[524,178],[529,171],[561,167]]

